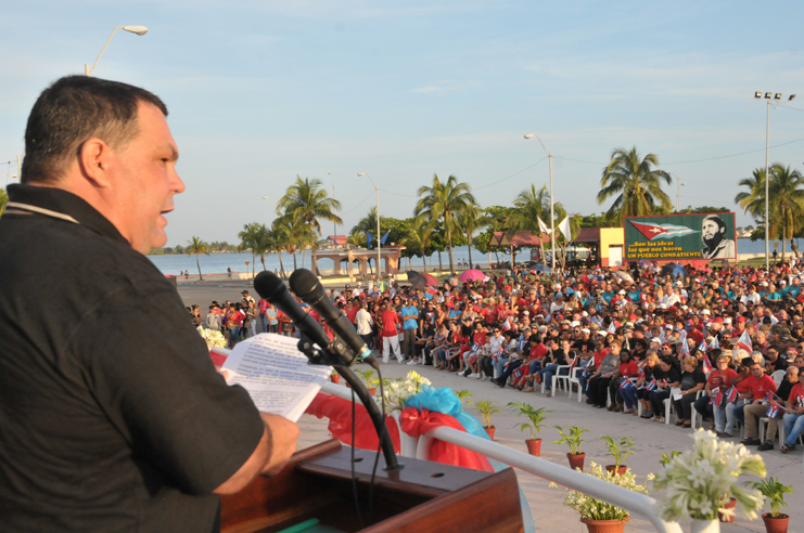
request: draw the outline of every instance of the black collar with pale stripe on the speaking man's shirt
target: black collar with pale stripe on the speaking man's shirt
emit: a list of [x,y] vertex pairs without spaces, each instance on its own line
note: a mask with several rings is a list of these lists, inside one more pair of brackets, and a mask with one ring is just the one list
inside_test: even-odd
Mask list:
[[9,185],[9,202],[47,209],[60,214],[73,217],[79,224],[89,227],[95,233],[114,240],[127,243],[117,227],[112,224],[95,208],[90,206],[84,198],[73,193],[53,187],[40,187],[36,185],[13,184]]

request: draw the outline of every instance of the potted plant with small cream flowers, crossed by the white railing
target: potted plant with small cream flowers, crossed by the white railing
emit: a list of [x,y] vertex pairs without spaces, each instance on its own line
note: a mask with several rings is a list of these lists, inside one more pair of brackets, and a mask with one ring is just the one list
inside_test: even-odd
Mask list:
[[[614,476],[595,461],[590,461],[589,466],[591,471],[584,473],[590,478],[597,478],[639,494],[648,494],[647,484],[637,483],[637,477],[630,470],[622,476]],[[648,474],[646,483],[651,479],[653,476]],[[561,490],[556,483],[550,483],[550,486]],[[580,515],[580,521],[586,524],[589,533],[620,533],[625,530],[626,522],[630,520],[627,510],[573,490],[564,492],[564,505]]]

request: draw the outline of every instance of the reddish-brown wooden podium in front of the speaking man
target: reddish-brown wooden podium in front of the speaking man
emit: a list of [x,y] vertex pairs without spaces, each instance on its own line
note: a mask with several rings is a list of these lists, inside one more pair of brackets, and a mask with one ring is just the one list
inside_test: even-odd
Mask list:
[[[375,454],[355,450],[360,529],[352,485],[352,450],[331,440],[297,452],[273,478],[259,477],[221,497],[221,532],[273,533],[316,518],[318,531],[468,533],[523,531],[513,469],[483,472],[400,457],[386,472],[382,454],[374,480],[374,522],[369,523],[369,482]],[[316,531],[316,530],[311,530]]]

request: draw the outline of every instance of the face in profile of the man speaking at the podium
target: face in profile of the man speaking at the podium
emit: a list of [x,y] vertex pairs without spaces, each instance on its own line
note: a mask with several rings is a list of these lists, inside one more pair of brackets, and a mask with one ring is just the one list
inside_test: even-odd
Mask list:
[[163,214],[174,210],[174,195],[184,191],[176,173],[179,151],[162,112],[140,103],[139,134],[115,153],[109,216],[131,248],[148,253],[167,243]]

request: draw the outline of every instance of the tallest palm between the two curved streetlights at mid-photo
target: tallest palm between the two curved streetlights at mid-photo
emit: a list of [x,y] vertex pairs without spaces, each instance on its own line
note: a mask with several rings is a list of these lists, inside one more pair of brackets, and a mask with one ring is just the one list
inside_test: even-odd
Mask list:
[[449,247],[449,270],[455,272],[455,253],[452,252],[452,234],[460,233],[458,217],[477,203],[469,188],[469,184],[459,183],[455,176],[450,176],[446,183],[438,180],[438,174],[433,174],[433,186],[422,186],[417,193],[419,202],[416,204],[413,214],[417,223],[439,220],[444,224]]

